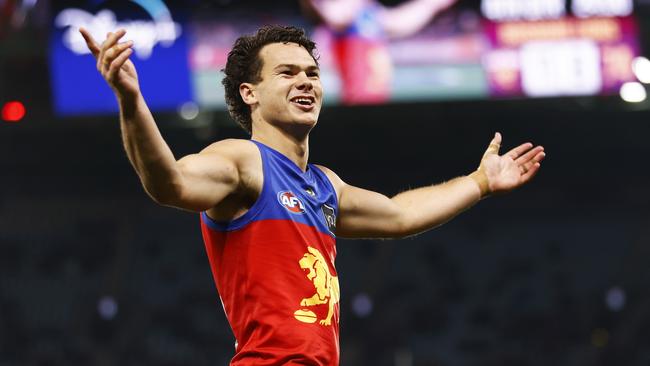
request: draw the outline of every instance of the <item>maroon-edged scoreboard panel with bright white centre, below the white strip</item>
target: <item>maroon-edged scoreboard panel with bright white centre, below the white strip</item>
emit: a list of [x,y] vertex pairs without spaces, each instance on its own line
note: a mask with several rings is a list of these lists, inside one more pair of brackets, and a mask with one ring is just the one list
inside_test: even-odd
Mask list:
[[562,18],[486,22],[484,67],[495,96],[617,93],[635,79],[636,22],[625,18]]

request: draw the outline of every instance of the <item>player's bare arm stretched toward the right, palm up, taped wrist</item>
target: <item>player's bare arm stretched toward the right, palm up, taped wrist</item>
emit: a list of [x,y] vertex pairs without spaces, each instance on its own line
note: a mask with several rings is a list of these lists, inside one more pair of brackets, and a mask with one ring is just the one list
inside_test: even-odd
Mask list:
[[339,194],[337,236],[400,238],[444,224],[490,194],[509,192],[529,182],[545,153],[522,144],[499,156],[496,134],[479,169],[469,176],[402,192],[392,198],[346,184],[326,170]]

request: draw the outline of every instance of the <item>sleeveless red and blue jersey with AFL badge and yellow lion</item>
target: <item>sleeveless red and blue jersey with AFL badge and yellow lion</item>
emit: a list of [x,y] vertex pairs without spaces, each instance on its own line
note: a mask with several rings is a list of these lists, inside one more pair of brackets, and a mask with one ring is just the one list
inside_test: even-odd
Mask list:
[[327,176],[257,142],[264,183],[230,222],[201,213],[217,290],[235,335],[231,366],[338,365],[338,205]]

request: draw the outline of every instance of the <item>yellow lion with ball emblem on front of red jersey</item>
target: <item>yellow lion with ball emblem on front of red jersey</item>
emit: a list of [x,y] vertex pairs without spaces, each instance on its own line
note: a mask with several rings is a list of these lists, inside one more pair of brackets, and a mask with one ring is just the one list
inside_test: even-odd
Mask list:
[[[316,293],[312,297],[304,298],[300,301],[300,306],[328,305],[327,316],[320,321],[321,325],[332,324],[334,316],[334,305],[339,302],[339,278],[333,276],[325,258],[316,248],[307,247],[308,253],[298,261],[300,268],[308,270],[307,278],[316,288]],[[313,311],[300,309],[294,313],[296,319],[304,323],[314,323],[317,318]]]

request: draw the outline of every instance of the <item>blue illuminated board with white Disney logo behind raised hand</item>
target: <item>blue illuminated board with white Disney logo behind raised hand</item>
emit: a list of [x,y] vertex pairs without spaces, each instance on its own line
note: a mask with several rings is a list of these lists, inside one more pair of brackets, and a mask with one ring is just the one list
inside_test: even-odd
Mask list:
[[[54,108],[59,115],[117,111],[112,91],[96,69],[80,27],[101,42],[119,28],[134,41],[130,57],[138,71],[142,93],[152,110],[175,110],[193,100],[187,65],[187,34],[164,2],[133,0],[127,11],[142,18],[117,15],[104,2],[90,2],[87,8],[61,8],[54,16],[49,60]],[[98,4],[99,3],[99,4]],[[125,39],[125,40],[126,40]]]

